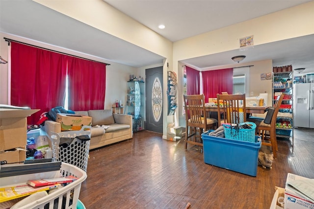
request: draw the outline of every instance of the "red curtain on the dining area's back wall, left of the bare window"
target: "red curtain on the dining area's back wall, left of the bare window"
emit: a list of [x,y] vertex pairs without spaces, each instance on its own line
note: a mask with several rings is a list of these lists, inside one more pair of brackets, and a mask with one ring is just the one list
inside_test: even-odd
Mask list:
[[216,98],[217,93],[233,93],[233,69],[202,71],[205,100]]

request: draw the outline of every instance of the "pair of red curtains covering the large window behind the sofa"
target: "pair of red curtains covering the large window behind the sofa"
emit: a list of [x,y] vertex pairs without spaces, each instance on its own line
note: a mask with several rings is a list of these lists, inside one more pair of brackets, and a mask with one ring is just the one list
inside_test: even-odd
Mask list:
[[42,113],[56,106],[76,111],[104,108],[105,63],[24,43],[10,44],[11,104],[40,109],[27,118],[27,124],[36,124]]

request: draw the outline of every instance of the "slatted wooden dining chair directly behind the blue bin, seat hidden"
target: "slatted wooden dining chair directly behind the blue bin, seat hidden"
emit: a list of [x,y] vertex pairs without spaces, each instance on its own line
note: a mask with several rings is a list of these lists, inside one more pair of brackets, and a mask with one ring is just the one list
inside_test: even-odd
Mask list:
[[217,109],[218,126],[221,123],[246,122],[245,93],[217,94]]

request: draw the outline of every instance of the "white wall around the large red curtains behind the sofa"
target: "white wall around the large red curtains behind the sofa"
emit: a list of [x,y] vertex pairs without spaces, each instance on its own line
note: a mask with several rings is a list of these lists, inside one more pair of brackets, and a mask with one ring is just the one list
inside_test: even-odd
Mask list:
[[[58,46],[52,46],[52,45],[48,45],[45,43],[37,42],[34,40],[19,37],[19,36],[14,36],[14,35],[6,34],[6,33],[0,33],[0,49],[1,49],[0,55],[5,60],[8,60],[9,46],[8,46],[8,43],[3,39],[3,37],[110,64],[106,66],[105,109],[111,109],[112,104],[115,103],[117,99],[118,100],[121,99],[122,103],[125,104],[126,92],[128,88],[127,81],[129,80],[130,74],[136,74],[136,68],[110,62],[108,60],[91,56],[88,54],[83,54],[77,51],[60,48]],[[9,63],[5,65],[3,64],[0,65],[0,104],[9,104],[8,85],[10,85],[10,81],[8,81],[8,74],[9,74],[8,66],[9,66]],[[97,91],[97,89],[95,91]],[[122,95],[122,96],[119,96],[119,95]]]

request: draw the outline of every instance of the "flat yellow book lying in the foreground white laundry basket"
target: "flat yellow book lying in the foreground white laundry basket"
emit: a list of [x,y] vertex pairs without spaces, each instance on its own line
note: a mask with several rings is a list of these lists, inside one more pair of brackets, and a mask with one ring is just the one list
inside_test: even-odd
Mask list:
[[34,187],[23,183],[16,186],[0,187],[0,203],[31,195],[38,191],[46,191],[60,186],[61,184],[53,184],[48,186]]

